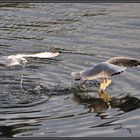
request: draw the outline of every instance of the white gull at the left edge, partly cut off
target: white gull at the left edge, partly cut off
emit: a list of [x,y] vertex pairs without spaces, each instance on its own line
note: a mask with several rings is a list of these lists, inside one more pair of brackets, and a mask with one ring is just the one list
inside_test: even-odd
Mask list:
[[0,66],[15,66],[15,65],[25,65],[27,63],[27,57],[36,58],[52,58],[58,56],[58,52],[40,52],[35,54],[16,54],[9,56],[0,57]]

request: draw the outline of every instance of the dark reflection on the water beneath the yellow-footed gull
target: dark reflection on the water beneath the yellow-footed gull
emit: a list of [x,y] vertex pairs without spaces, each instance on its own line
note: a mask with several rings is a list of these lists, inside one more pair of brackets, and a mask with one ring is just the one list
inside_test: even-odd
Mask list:
[[[82,96],[81,96],[82,95]],[[123,112],[129,112],[140,108],[140,100],[133,96],[125,96],[122,98],[111,98],[107,100],[110,95],[105,92],[100,98],[83,96],[83,94],[74,94],[72,100],[85,105],[89,108],[89,112],[102,113],[111,108],[119,108]]]

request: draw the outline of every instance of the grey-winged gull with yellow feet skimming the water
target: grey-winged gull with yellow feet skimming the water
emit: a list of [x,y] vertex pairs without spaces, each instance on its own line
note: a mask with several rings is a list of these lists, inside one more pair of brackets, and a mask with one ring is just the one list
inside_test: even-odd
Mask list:
[[80,72],[72,72],[71,76],[80,81],[82,86],[87,80],[101,79],[99,93],[105,92],[105,89],[111,84],[109,78],[125,71],[128,67],[140,65],[140,60],[129,57],[113,57],[105,62],[95,64],[94,66]]

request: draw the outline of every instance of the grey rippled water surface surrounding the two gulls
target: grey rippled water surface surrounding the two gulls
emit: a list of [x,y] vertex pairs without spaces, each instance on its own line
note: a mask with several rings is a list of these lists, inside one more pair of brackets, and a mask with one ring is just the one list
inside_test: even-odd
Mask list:
[[114,56],[140,58],[139,3],[0,4],[0,56],[49,50],[61,55],[0,68],[0,137],[140,136],[140,67],[112,78],[110,105],[98,81],[81,91],[70,76]]

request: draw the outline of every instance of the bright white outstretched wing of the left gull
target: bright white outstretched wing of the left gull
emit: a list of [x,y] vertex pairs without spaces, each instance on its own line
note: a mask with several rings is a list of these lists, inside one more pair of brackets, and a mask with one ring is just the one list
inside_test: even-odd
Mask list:
[[36,57],[36,58],[52,58],[58,56],[58,52],[41,52],[35,54],[17,54],[16,57]]

